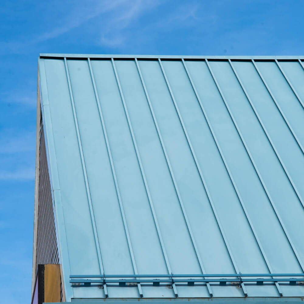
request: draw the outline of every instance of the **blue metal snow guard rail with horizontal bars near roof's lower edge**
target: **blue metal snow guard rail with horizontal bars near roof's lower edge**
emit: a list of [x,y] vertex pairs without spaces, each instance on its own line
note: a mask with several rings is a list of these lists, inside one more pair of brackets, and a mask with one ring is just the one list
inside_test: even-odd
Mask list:
[[[208,278],[206,278],[208,277]],[[254,277],[254,278],[252,278]],[[264,278],[263,278],[264,277]],[[280,277],[280,278],[273,278]],[[285,278],[282,278],[285,277]],[[303,280],[294,277],[303,277]],[[134,286],[137,283],[152,283],[153,286],[162,285],[172,286],[173,283],[187,283],[188,286],[194,286],[194,283],[219,283],[224,286],[229,283],[256,282],[257,285],[263,285],[264,282],[289,282],[289,285],[304,284],[304,273],[264,273],[264,274],[196,274],[196,275],[70,275],[70,283],[81,284],[81,287],[102,286],[104,284],[115,284],[113,286]],[[91,279],[88,279],[91,278]],[[100,278],[95,280],[92,278]],[[107,279],[110,278],[110,279]],[[111,279],[116,278],[116,279]],[[164,278],[164,279],[158,279]],[[91,284],[96,283],[96,284]],[[117,285],[118,283],[118,285]]]

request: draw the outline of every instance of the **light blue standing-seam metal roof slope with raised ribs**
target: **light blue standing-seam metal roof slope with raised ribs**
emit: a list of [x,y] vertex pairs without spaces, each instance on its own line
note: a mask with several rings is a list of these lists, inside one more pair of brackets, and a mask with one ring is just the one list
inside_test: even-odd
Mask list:
[[302,59],[40,55],[67,300],[304,296]]

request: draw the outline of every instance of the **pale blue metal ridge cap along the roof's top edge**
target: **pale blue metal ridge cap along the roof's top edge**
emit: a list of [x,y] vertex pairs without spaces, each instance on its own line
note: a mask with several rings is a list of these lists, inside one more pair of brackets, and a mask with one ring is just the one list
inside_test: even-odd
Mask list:
[[219,60],[228,60],[228,59],[238,59],[238,60],[304,60],[304,55],[300,56],[170,56],[170,55],[119,55],[119,54],[51,54],[51,53],[40,53],[40,58],[116,58],[116,59],[219,59]]

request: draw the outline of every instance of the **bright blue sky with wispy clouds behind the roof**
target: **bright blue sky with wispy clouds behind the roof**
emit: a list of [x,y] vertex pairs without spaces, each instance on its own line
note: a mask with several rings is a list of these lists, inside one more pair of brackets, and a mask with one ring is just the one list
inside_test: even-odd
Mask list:
[[39,53],[303,55],[303,8],[297,0],[2,0],[2,302],[31,297]]

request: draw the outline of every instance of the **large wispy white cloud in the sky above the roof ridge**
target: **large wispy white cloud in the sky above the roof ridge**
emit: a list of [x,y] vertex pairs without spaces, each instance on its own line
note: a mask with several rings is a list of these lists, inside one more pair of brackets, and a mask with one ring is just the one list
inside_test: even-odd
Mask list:
[[[19,53],[26,47],[31,47],[47,40],[57,38],[69,33],[84,24],[88,25],[88,35],[92,43],[98,46],[119,48],[130,41],[134,36],[145,37],[146,33],[155,31],[169,32],[180,27],[191,27],[199,18],[197,11],[200,4],[192,2],[178,5],[163,11],[168,0],[89,0],[88,2],[70,3],[68,9],[59,10],[60,24],[46,28],[45,32],[34,33],[26,40],[0,41],[0,49],[3,52],[10,51]],[[157,11],[162,13],[157,13]],[[154,12],[156,18],[145,19],[146,15]],[[200,16],[201,17],[201,16]],[[91,20],[94,19],[94,22]],[[145,20],[144,26],[137,26],[140,20]],[[90,25],[89,23],[92,23]],[[93,25],[94,24],[94,25]],[[39,31],[39,29],[38,29]],[[151,37],[152,37],[151,36]]]

